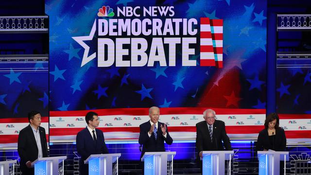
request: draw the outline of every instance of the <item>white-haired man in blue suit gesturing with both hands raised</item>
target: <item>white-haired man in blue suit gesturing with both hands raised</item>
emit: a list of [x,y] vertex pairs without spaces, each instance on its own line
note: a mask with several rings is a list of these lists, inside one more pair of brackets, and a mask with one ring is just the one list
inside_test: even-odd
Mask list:
[[[139,144],[142,145],[140,158],[145,152],[162,152],[164,149],[164,141],[171,145],[173,139],[164,123],[158,122],[160,109],[158,107],[149,108],[150,121],[139,125]],[[143,166],[142,166],[143,167]]]

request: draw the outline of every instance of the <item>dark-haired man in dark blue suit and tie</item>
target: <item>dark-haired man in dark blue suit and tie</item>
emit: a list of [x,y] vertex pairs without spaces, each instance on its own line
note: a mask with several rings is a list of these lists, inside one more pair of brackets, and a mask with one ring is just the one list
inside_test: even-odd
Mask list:
[[98,114],[88,112],[86,114],[87,126],[77,134],[77,151],[80,158],[80,175],[88,175],[88,164],[84,160],[92,154],[108,154],[103,131],[96,129],[99,125]]

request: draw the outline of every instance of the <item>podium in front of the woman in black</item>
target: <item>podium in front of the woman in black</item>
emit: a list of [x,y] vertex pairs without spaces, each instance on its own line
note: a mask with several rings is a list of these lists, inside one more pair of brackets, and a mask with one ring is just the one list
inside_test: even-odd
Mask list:
[[[279,175],[280,161],[289,160],[287,151],[258,151],[259,175]],[[284,171],[285,175],[285,171]]]

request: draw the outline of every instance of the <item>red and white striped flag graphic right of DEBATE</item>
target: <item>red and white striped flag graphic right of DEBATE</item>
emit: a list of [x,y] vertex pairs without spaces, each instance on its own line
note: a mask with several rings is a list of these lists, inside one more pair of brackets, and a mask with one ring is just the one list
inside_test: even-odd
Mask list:
[[200,20],[200,66],[223,68],[223,19]]

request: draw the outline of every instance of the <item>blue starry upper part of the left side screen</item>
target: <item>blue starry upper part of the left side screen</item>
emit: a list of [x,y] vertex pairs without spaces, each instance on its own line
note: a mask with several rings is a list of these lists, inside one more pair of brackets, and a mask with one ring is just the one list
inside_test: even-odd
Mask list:
[[47,117],[48,62],[1,62],[0,69],[0,118],[27,118],[31,110]]

